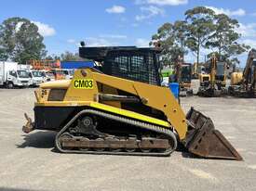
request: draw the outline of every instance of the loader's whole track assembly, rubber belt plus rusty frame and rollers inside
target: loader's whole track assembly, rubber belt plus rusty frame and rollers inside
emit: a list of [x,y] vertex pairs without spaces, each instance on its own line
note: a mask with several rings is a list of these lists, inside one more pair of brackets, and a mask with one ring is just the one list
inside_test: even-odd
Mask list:
[[77,113],[57,134],[55,143],[64,153],[118,155],[168,156],[177,147],[171,129],[95,109]]

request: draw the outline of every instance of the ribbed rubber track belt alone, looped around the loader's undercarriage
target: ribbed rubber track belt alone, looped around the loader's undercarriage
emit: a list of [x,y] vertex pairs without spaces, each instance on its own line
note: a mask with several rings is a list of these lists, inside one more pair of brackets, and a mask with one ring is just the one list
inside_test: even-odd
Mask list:
[[[93,115],[97,115],[97,116],[101,116],[103,118],[107,118],[110,120],[114,120],[114,121],[120,121],[122,123],[127,123],[127,124],[131,124],[137,127],[140,127],[141,129],[146,129],[146,130],[150,130],[153,131],[155,133],[159,133],[159,134],[165,134],[167,135],[172,141],[173,141],[173,148],[167,150],[164,153],[158,153],[158,152],[150,152],[150,153],[142,153],[142,152],[112,152],[112,151],[83,151],[83,150],[66,150],[66,149],[62,149],[61,148],[61,143],[59,141],[59,138],[61,136],[61,134],[65,133],[65,131],[70,127],[70,125],[81,115],[83,114],[93,114]],[[116,116],[113,114],[109,114],[109,113],[105,113],[99,110],[94,110],[94,109],[85,109],[80,111],[79,113],[77,113],[74,118],[69,121],[62,129],[61,131],[56,135],[55,137],[55,146],[62,152],[62,153],[85,153],[85,154],[104,154],[104,155],[140,155],[140,156],[169,156],[177,147],[177,139],[175,134],[172,132],[172,130],[168,130],[166,128],[160,127],[160,126],[156,126],[154,124],[150,124],[150,123],[146,123],[146,122],[142,122],[142,121],[134,121],[128,118],[124,118],[124,117],[120,117],[120,116]]]

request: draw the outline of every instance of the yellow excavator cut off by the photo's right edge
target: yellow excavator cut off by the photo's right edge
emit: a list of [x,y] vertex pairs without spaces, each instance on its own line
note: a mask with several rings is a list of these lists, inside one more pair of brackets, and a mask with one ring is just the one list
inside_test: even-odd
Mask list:
[[256,50],[251,49],[243,72],[231,74],[228,88],[231,96],[256,97]]

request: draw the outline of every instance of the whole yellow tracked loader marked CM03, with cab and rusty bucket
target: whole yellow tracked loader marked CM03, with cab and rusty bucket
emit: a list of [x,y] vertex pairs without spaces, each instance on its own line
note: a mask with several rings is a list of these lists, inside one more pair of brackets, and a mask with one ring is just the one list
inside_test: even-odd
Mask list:
[[187,115],[167,87],[160,86],[157,48],[79,48],[97,69],[75,70],[73,80],[42,83],[35,91],[34,121],[23,132],[57,131],[63,153],[169,156],[178,144],[195,156],[242,160],[191,108]]

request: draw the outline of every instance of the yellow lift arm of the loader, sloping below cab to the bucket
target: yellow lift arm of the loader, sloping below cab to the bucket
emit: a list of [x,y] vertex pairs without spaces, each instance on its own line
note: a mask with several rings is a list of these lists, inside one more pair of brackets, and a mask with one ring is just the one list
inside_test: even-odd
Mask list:
[[144,101],[144,105],[161,110],[168,118],[168,122],[179,134],[180,139],[184,139],[187,132],[186,117],[181,106],[166,87],[160,87],[147,83],[128,81],[93,72],[93,79],[112,87],[126,91],[134,96],[139,96]]

